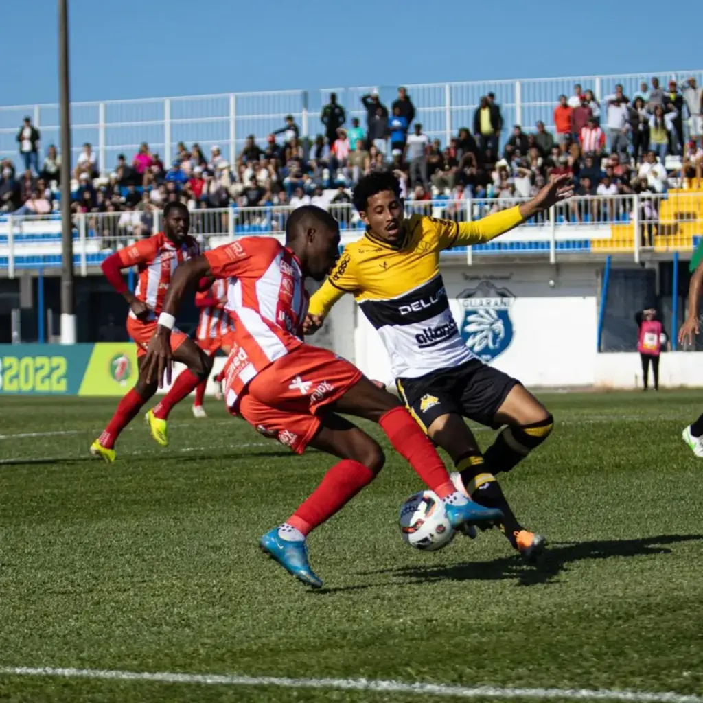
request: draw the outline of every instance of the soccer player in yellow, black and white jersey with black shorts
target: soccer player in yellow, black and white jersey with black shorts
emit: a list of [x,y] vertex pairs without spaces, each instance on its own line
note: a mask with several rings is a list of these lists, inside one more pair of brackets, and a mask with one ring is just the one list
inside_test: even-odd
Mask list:
[[[311,298],[305,321],[305,332],[313,333],[344,293],[354,295],[385,344],[401,398],[430,439],[450,454],[456,487],[481,505],[500,508],[500,527],[526,560],[541,553],[546,540],[517,521],[496,474],[510,471],[541,444],[553,417],[519,381],[486,366],[466,347],[449,309],[439,254],[488,242],[572,193],[568,176],[558,176],[529,202],[476,222],[405,218],[396,177],[370,173],[354,188],[366,233],[344,249]],[[503,427],[486,453],[464,418]]]

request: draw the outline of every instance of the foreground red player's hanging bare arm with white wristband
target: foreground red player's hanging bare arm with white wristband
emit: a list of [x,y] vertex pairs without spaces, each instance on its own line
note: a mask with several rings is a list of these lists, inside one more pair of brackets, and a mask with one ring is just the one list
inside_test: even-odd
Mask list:
[[155,380],[159,387],[166,382],[171,382],[171,330],[176,323],[176,314],[181,306],[181,301],[189,290],[195,288],[204,276],[210,275],[210,263],[204,254],[194,259],[189,259],[176,267],[171,285],[166,292],[163,311],[159,316],[156,332],[149,342],[144,364],[147,382]]

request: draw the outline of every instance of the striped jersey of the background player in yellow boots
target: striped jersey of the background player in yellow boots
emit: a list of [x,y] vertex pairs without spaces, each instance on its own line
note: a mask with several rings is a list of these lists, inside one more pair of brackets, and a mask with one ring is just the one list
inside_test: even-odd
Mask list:
[[[200,254],[200,246],[193,237],[186,236],[180,246],[175,245],[163,232],[140,239],[117,252],[122,268],[137,266],[138,278],[135,297],[145,302],[153,311],[149,319],[160,314],[166,291],[176,266]],[[129,312],[131,317],[134,313]]]

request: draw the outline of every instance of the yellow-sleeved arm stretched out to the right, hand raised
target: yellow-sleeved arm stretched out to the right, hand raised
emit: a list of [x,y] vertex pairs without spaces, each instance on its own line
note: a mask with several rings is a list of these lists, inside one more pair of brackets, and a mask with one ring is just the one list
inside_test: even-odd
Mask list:
[[501,210],[475,222],[460,222],[458,234],[449,238],[442,248],[465,247],[489,242],[534,217],[538,212],[548,210],[557,202],[571,198],[572,195],[574,195],[574,184],[569,174],[552,176],[549,183],[528,202]]

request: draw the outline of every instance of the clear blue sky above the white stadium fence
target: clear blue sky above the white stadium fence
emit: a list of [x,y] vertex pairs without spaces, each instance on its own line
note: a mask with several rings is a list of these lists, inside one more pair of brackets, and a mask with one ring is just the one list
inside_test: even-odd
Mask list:
[[[57,101],[56,0],[2,6],[0,104]],[[654,0],[70,0],[71,93],[93,101],[689,70],[703,63],[700,16],[692,0],[670,18]]]

